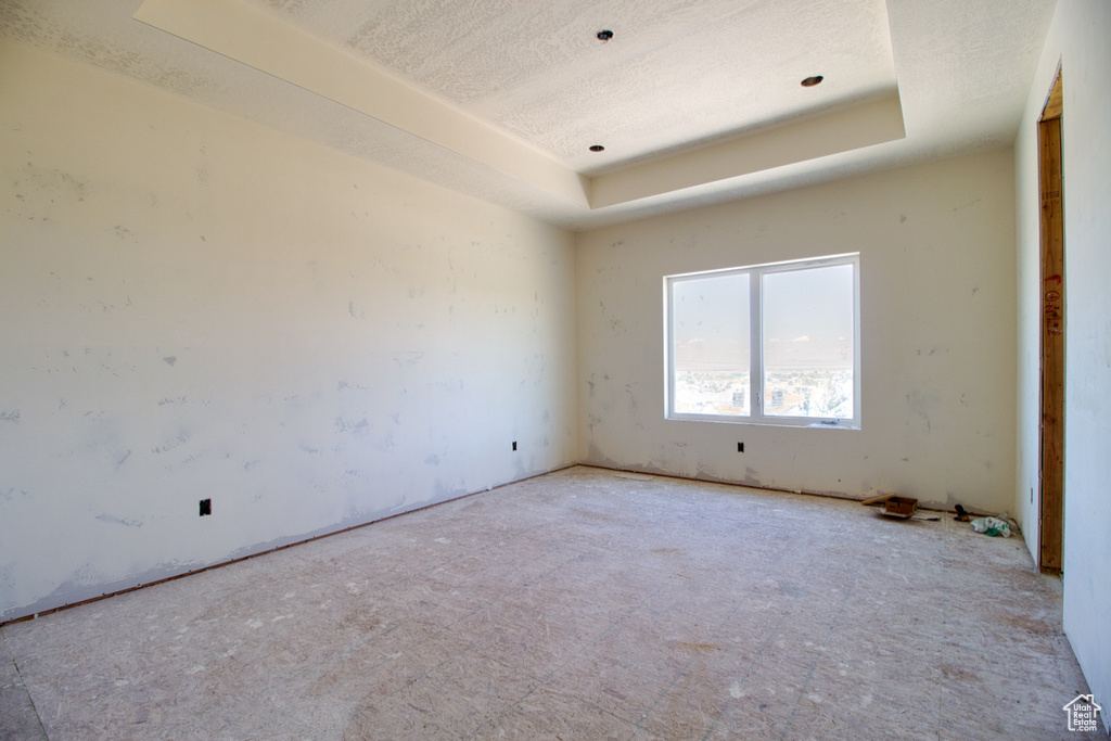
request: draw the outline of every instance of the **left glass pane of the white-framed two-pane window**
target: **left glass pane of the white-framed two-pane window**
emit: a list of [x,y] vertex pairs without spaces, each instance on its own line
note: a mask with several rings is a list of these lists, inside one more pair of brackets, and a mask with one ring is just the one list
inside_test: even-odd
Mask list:
[[673,411],[749,413],[749,276],[671,284]]

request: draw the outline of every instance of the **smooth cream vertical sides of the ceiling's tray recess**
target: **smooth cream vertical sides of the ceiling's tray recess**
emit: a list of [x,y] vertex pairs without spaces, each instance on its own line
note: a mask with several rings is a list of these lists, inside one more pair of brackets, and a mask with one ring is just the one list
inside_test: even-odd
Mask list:
[[240,0],[144,0],[133,18],[598,210],[651,199],[905,136],[898,88],[879,98],[588,177],[402,80]]

